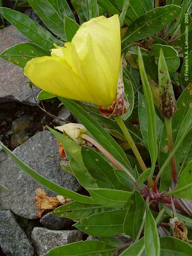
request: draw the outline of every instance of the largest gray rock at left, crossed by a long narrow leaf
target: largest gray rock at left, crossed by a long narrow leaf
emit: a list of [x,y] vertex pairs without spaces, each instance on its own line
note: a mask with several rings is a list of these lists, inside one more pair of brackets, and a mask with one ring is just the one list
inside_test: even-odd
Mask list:
[[[58,185],[73,191],[81,189],[76,178],[59,166],[57,141],[49,131],[38,132],[13,152],[36,172]],[[35,219],[38,209],[34,198],[38,183],[21,171],[9,157],[0,162],[0,170],[0,183],[9,189],[0,193],[0,207],[24,218]],[[47,195],[55,196],[42,188]]]

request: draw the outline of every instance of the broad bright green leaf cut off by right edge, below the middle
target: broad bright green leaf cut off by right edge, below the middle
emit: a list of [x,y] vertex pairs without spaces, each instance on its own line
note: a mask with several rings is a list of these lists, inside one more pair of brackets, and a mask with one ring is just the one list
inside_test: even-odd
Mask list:
[[192,200],[192,160],[181,173],[176,188],[172,192],[168,192],[168,195]]

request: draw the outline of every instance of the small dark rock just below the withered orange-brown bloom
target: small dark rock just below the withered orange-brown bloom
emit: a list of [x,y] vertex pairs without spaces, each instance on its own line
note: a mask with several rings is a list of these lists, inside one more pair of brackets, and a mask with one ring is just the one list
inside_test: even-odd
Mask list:
[[70,218],[54,216],[48,212],[40,219],[40,223],[52,230],[62,230],[69,226],[72,220]]

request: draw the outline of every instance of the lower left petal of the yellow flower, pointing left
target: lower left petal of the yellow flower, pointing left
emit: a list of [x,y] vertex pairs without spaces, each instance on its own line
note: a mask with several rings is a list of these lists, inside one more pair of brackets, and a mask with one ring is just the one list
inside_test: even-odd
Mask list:
[[73,72],[64,58],[55,55],[34,58],[27,62],[24,75],[39,88],[56,96],[96,104],[82,79]]

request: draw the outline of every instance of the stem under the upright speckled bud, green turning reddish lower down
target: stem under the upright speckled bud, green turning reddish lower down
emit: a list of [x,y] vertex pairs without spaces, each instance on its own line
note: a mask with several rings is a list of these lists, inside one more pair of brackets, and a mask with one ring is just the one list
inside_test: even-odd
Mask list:
[[[165,118],[165,124],[166,124],[166,131],[167,131],[169,153],[171,153],[173,149],[172,118],[170,119]],[[171,162],[172,178],[173,178],[174,187],[175,187],[177,185],[177,167],[176,167],[175,156],[171,158],[170,162]]]

